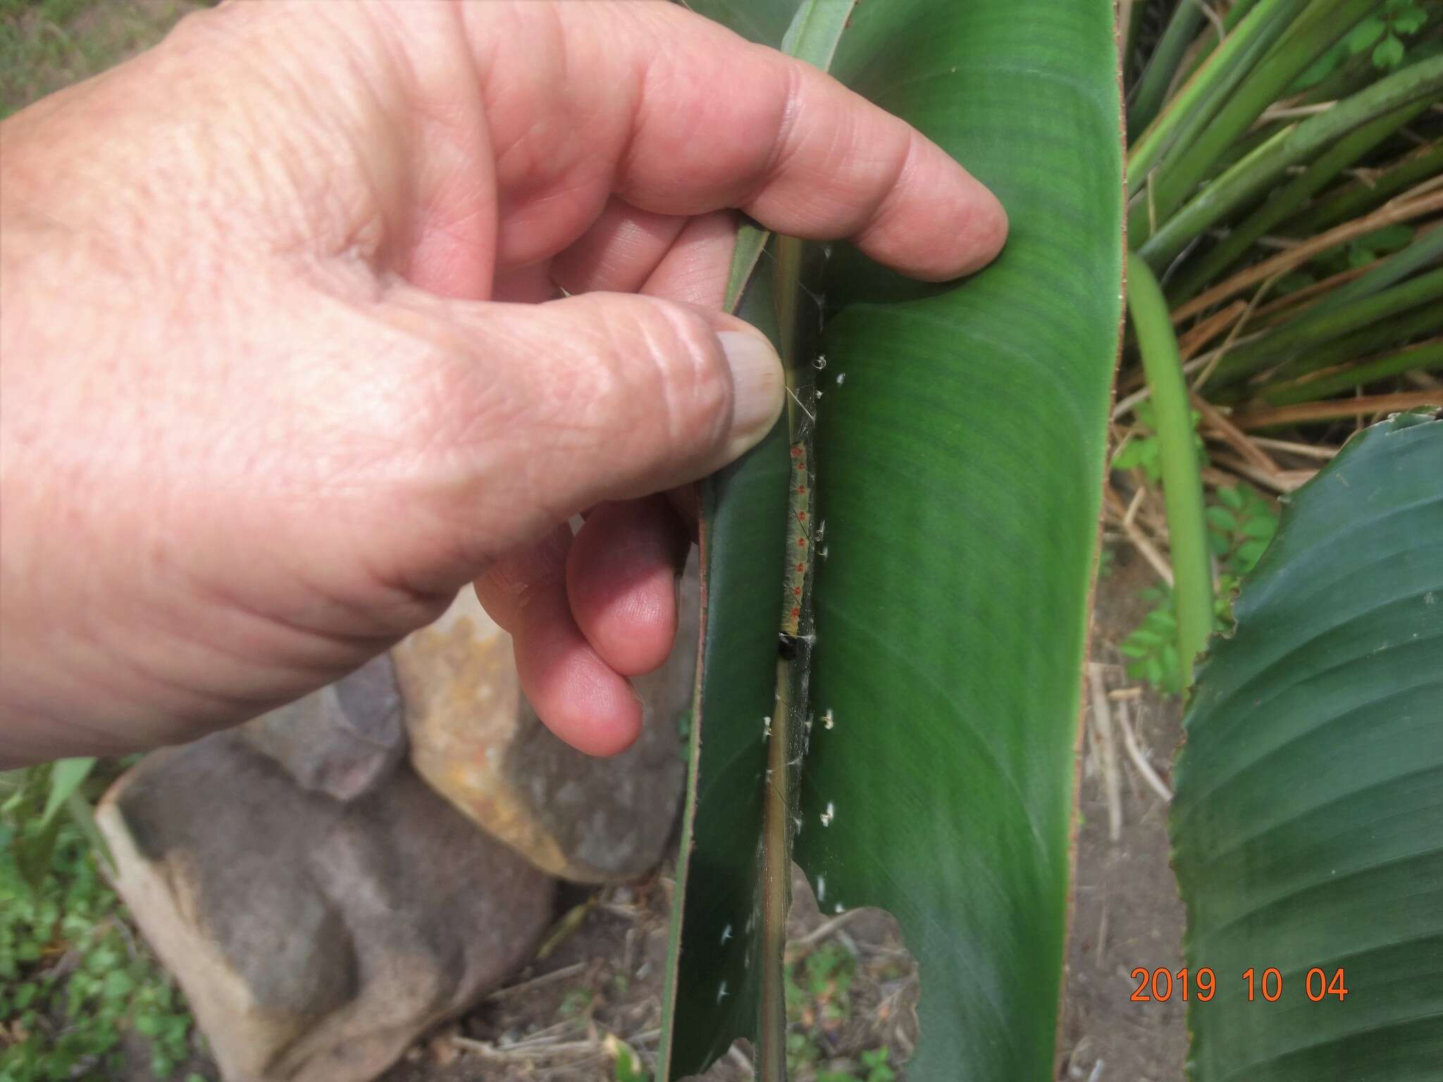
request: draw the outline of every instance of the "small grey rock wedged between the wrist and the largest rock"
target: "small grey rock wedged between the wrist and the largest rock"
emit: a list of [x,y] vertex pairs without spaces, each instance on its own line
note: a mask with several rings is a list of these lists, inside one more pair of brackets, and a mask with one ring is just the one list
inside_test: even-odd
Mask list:
[[320,691],[250,721],[247,742],[302,789],[354,801],[405,757],[401,688],[385,654]]

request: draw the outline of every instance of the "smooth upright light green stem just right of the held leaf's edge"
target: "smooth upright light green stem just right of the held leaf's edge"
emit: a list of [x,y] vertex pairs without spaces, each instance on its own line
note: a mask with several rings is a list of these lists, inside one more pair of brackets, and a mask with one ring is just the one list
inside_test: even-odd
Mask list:
[[1143,372],[1153,398],[1172,550],[1173,599],[1177,607],[1177,656],[1182,661],[1183,682],[1190,684],[1193,661],[1212,630],[1212,571],[1202,515],[1202,476],[1188,384],[1177,356],[1177,338],[1167,315],[1167,302],[1157,278],[1137,255],[1128,255],[1127,260],[1127,310],[1137,332]]

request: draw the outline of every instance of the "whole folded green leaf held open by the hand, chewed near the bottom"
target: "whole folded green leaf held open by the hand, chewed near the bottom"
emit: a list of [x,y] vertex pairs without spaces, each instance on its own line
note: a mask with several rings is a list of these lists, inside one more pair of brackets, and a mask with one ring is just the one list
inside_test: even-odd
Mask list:
[[[778,4],[755,6],[773,17],[752,25],[775,32]],[[704,491],[680,962],[658,1075],[745,1036],[778,1076],[766,987],[781,941],[762,926],[785,890],[768,844],[781,834],[824,910],[899,919],[922,977],[909,1078],[1040,1081],[1121,319],[1113,9],[877,0],[850,23],[834,71],[991,186],[1012,234],[996,264],[944,287],[838,247],[820,355],[817,290],[795,284],[815,251],[773,242],[756,263],[739,312],[789,346],[798,400],[789,434]],[[817,525],[798,535],[788,489],[812,476]],[[814,645],[805,617],[786,629],[781,612],[799,542],[817,550],[798,580]],[[799,658],[778,658],[779,632]]]

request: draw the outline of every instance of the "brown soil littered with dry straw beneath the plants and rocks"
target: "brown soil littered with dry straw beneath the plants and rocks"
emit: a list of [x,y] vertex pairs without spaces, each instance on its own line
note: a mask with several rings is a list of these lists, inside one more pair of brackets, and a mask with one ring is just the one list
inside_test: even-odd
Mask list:
[[[189,0],[0,0],[0,115],[91,75],[157,39]],[[1092,659],[1123,687],[1115,651],[1141,619],[1137,591],[1152,576],[1118,551],[1098,584]],[[1152,695],[1130,700],[1144,753],[1167,780],[1180,740],[1176,704]],[[1072,935],[1059,1027],[1059,1079],[1085,1082],[1176,1082],[1182,1079],[1186,1029],[1180,1003],[1131,1003],[1134,967],[1182,967],[1183,910],[1167,866],[1166,808],[1118,756],[1121,830],[1114,840],[1102,786],[1102,762],[1084,756],[1076,837]],[[544,956],[465,1019],[417,1043],[382,1082],[580,1082],[619,1078],[608,1037],[625,1040],[649,1066],[661,1011],[665,929],[671,909],[670,868],[600,893],[567,892]],[[895,923],[876,910],[854,910],[844,922],[824,919],[805,883],[798,883],[789,956],[797,967],[823,959],[850,982],[811,982],[794,1033],[808,1082],[818,1070],[866,1078],[863,1053],[889,1049],[899,1066],[916,1039],[918,985]],[[811,988],[820,988],[812,994]],[[130,1075],[149,1082],[137,1047]],[[188,1065],[208,1079],[214,1066]],[[905,1068],[902,1069],[905,1075]],[[747,1057],[734,1052],[709,1082],[750,1078]]]

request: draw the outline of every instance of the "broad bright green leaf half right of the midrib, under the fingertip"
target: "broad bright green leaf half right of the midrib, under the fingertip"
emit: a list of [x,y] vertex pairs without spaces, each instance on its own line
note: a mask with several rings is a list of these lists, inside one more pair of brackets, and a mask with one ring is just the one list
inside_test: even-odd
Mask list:
[[908,1078],[1046,1079],[1121,319],[1113,10],[863,4],[835,71],[964,162],[1012,232],[932,296],[882,300],[905,289],[843,260],[828,281],[811,685],[834,726],[797,858],[828,912],[900,922],[922,977]]

